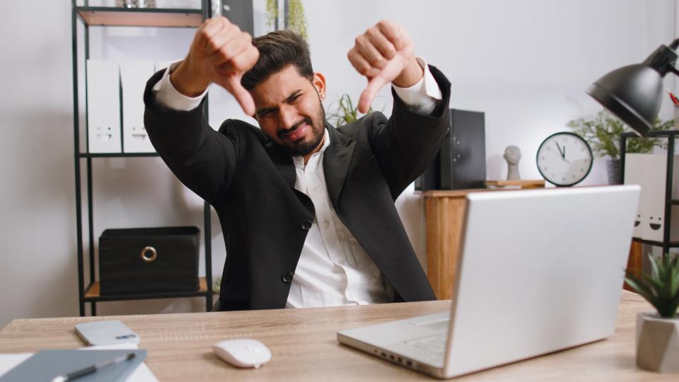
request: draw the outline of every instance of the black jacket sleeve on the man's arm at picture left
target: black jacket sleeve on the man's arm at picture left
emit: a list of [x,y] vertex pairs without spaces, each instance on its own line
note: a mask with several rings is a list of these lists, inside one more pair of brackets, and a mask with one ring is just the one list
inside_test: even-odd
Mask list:
[[[236,137],[216,132],[207,122],[207,97],[187,112],[170,110],[156,102],[153,86],[161,79],[158,71],[146,83],[144,125],[151,144],[179,180],[190,190],[216,206],[228,190],[236,171]],[[231,132],[235,134],[235,132]]]

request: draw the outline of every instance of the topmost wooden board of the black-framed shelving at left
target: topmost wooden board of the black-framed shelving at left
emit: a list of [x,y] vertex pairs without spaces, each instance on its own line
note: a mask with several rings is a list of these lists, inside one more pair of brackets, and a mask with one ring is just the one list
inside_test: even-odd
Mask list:
[[192,28],[203,22],[201,9],[76,6],[76,11],[87,25]]

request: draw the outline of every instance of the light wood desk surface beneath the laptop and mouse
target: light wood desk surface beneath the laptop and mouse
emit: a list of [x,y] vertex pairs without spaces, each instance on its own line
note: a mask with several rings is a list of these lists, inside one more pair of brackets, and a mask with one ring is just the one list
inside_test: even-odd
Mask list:
[[[339,345],[339,329],[446,311],[450,301],[390,303],[338,308],[223,313],[115,316],[141,337],[146,364],[159,381],[396,381],[433,378]],[[649,311],[641,297],[624,291],[615,335],[528,361],[470,374],[455,381],[677,381],[634,365],[637,312]],[[75,348],[76,323],[106,317],[13,320],[0,330],[0,353]],[[217,359],[211,346],[227,338],[253,337],[273,357],[257,370],[235,369]]]

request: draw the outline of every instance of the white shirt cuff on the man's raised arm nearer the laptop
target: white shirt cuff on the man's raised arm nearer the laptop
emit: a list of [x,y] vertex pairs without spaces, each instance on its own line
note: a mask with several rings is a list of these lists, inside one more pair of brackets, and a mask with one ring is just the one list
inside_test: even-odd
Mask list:
[[424,69],[424,76],[409,88],[401,88],[392,84],[397,96],[414,112],[430,114],[436,108],[438,100],[443,98],[439,83],[429,71],[426,61],[422,57],[415,57],[419,66]]

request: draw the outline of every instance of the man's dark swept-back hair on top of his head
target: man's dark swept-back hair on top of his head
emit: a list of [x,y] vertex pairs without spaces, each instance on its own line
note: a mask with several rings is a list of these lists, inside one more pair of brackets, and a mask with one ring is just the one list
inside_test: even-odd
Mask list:
[[243,88],[252,90],[257,84],[289,65],[294,65],[300,76],[308,78],[309,81],[313,79],[309,45],[296,33],[275,30],[255,37],[253,45],[260,51],[260,59],[240,80]]

